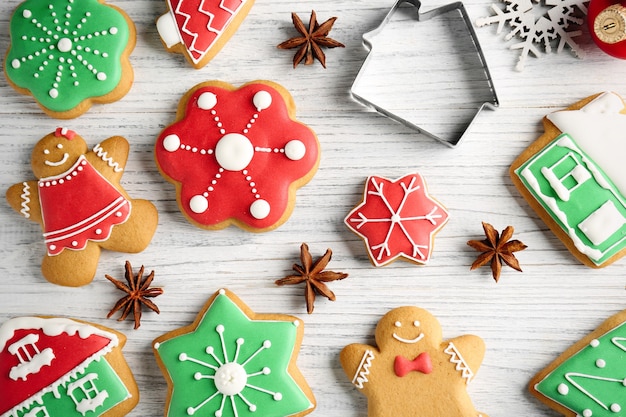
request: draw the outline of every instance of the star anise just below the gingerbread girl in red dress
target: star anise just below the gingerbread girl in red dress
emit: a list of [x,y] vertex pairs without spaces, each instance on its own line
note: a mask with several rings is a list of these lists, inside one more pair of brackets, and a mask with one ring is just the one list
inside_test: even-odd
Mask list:
[[143,278],[143,265],[139,269],[137,275],[133,274],[133,268],[130,265],[130,262],[126,261],[126,273],[124,274],[126,277],[126,282],[128,285],[124,284],[117,279],[105,275],[105,277],[111,281],[117,289],[124,291],[126,296],[121,298],[115,306],[109,311],[107,318],[110,318],[115,312],[122,310],[122,315],[117,321],[122,321],[128,317],[130,312],[133,313],[135,319],[135,329],[138,329],[140,326],[141,320],[141,305],[145,305],[153,311],[156,311],[157,314],[160,313],[159,307],[156,306],[152,301],[148,298],[154,298],[161,294],[163,294],[163,290],[161,288],[150,287],[152,280],[154,279],[154,271],[150,272],[150,274],[145,278]]

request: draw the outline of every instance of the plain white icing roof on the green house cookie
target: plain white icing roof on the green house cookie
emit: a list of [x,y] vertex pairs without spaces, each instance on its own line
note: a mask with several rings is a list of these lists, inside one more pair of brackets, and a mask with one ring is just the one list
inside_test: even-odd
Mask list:
[[622,99],[606,92],[580,110],[549,114],[548,120],[568,133],[626,196],[626,114]]

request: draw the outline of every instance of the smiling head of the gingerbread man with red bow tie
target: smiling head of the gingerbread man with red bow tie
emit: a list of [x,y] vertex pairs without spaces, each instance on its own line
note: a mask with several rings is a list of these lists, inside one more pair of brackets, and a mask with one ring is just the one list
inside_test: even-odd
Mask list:
[[436,348],[441,337],[437,319],[418,307],[393,309],[376,326],[376,343],[381,350],[423,351]]

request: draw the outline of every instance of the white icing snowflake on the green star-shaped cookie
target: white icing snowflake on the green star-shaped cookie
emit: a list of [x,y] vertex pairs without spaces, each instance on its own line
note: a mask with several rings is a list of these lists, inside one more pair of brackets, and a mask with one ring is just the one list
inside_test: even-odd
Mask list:
[[246,389],[259,391],[270,395],[275,401],[282,400],[282,394],[280,392],[272,392],[257,385],[253,385],[249,382],[250,378],[269,375],[271,373],[271,369],[269,367],[265,366],[261,370],[252,373],[248,373],[248,371],[246,370],[246,366],[248,365],[248,363],[257,355],[261,354],[264,350],[270,349],[272,347],[272,343],[269,340],[263,341],[261,346],[259,346],[259,348],[254,351],[252,355],[242,360],[241,358],[239,358],[239,349],[245,343],[245,340],[241,337],[237,338],[235,341],[235,353],[232,360],[229,360],[226,344],[224,342],[224,332],[226,331],[224,325],[217,325],[215,331],[219,335],[221,341],[221,359],[216,355],[216,348],[214,346],[208,346],[206,348],[206,353],[210,357],[208,360],[193,358],[186,353],[181,353],[178,356],[178,359],[181,362],[192,362],[201,367],[202,371],[198,371],[193,375],[195,381],[211,379],[215,383],[215,387],[217,389],[213,393],[207,393],[207,398],[200,404],[189,406],[187,408],[187,414],[190,416],[194,415],[207,403],[219,396],[221,396],[220,407],[212,414],[215,417],[222,417],[224,405],[226,404],[227,400],[230,402],[232,409],[235,411],[235,415],[238,415],[235,397],[239,397],[247,405],[249,411],[255,412],[257,410],[257,406],[255,404],[252,404],[244,396],[244,390]]

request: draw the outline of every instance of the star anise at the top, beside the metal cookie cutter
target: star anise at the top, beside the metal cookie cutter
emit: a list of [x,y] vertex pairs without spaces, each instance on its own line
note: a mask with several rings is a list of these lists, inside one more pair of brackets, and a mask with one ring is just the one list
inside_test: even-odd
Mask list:
[[344,44],[328,37],[336,17],[331,17],[321,25],[317,22],[317,16],[315,11],[311,11],[311,18],[309,19],[309,28],[304,26],[304,23],[297,14],[291,13],[291,20],[296,30],[300,32],[302,36],[296,36],[278,45],[279,49],[292,49],[298,48],[298,52],[293,57],[293,67],[297,67],[298,64],[304,59],[305,65],[311,65],[315,58],[326,68],[326,55],[322,51],[322,46],[326,48],[345,47]]

